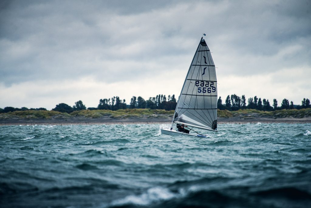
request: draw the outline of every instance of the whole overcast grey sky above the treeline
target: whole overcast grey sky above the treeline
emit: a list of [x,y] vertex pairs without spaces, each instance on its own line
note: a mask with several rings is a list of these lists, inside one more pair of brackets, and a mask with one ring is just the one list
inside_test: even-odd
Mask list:
[[309,0],[2,0],[0,107],[178,97],[202,33],[223,102],[311,99]]

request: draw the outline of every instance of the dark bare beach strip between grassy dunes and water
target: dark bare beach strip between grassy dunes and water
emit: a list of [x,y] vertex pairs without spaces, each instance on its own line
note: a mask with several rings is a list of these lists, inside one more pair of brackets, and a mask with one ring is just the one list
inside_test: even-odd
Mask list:
[[[85,118],[85,117],[73,117],[73,118],[61,118],[61,119],[2,119],[0,125],[97,125],[97,124],[154,124],[154,123],[170,123],[171,118],[126,118],[126,119],[114,119],[114,118]],[[311,117],[305,118],[265,118],[256,117],[244,119],[240,117],[230,118],[218,118],[218,124],[245,124],[245,123],[311,123]]]

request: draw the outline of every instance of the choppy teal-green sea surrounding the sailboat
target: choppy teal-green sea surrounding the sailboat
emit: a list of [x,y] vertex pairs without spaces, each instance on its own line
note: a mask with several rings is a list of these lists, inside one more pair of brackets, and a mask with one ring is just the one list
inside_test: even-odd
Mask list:
[[167,125],[0,126],[0,207],[311,207],[311,124]]

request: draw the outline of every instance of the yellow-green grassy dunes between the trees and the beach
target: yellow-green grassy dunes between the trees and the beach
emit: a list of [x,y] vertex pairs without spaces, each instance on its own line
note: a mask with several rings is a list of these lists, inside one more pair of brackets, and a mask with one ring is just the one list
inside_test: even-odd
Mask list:
[[[118,111],[110,110],[82,110],[74,111],[70,114],[58,111],[14,111],[1,113],[0,119],[61,119],[71,118],[74,116],[82,116],[86,118],[100,118],[107,116],[115,119],[124,118],[168,118],[174,115],[174,111],[151,110],[151,109],[121,109]],[[218,117],[230,118],[252,118],[252,117],[268,117],[268,118],[304,118],[311,116],[311,108],[292,109],[279,111],[258,111],[254,109],[245,109],[238,111],[218,110]]]

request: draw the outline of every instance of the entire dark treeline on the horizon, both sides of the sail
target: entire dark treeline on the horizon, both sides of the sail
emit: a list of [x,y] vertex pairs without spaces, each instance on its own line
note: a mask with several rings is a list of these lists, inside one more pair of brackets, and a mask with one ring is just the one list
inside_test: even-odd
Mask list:
[[[163,109],[163,110],[175,110],[177,105],[175,95],[166,97],[165,95],[157,95],[156,97],[149,97],[148,100],[145,100],[141,96],[133,96],[129,105],[126,104],[125,99],[120,99],[118,96],[112,98],[100,99],[97,107],[89,107],[88,110],[112,110],[116,111],[119,109],[127,108],[149,108],[149,109]],[[275,111],[281,109],[302,109],[310,108],[310,100],[304,98],[301,101],[301,105],[294,105],[292,101],[289,102],[287,99],[283,99],[281,106],[278,106],[277,100],[273,99],[273,103],[270,104],[269,100],[261,99],[257,96],[250,97],[247,100],[244,95],[242,97],[234,95],[228,95],[225,103],[222,103],[221,97],[218,98],[217,108],[220,110],[229,110],[237,111],[239,109],[257,109],[260,111]],[[45,108],[14,108],[14,107],[5,107],[4,109],[0,108],[0,113],[7,113],[13,111],[26,111],[26,110],[35,110],[35,111],[46,111]],[[86,106],[81,100],[75,102],[74,106],[69,106],[66,103],[59,103],[52,109],[53,111],[71,113],[73,111],[86,110]]]

